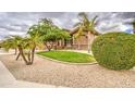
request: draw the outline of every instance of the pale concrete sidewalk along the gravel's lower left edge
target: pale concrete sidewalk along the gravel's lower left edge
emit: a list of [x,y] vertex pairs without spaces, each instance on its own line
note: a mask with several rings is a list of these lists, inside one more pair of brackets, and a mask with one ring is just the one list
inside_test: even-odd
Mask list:
[[14,76],[9,72],[9,70],[3,65],[2,62],[0,62],[0,87],[13,87],[13,88],[56,88],[56,86],[50,85],[41,85],[36,83],[29,83],[29,81],[21,81],[16,80]]

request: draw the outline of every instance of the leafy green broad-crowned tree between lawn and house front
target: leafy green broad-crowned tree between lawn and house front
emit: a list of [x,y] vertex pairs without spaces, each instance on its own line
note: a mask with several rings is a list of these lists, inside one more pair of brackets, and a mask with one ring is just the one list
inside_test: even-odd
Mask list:
[[65,30],[59,28],[56,26],[51,20],[49,18],[41,18],[38,22],[37,27],[38,34],[42,39],[42,42],[47,47],[47,49],[50,51],[54,43],[59,40],[68,40],[70,38],[70,34],[68,34]]

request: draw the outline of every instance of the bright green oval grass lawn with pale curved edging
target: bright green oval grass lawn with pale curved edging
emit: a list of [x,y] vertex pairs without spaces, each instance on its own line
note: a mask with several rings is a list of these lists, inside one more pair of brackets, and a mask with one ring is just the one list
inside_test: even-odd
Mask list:
[[85,53],[71,52],[71,51],[49,51],[38,52],[37,54],[47,56],[50,59],[71,62],[71,63],[91,63],[95,62],[94,56]]

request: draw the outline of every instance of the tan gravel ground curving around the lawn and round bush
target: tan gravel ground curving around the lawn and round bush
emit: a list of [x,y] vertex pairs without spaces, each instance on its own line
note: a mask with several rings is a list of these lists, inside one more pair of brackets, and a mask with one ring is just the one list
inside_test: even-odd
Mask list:
[[14,55],[0,55],[12,75],[20,80],[62,87],[135,87],[135,70],[111,71],[99,66],[53,62],[36,55],[34,65],[17,62]]

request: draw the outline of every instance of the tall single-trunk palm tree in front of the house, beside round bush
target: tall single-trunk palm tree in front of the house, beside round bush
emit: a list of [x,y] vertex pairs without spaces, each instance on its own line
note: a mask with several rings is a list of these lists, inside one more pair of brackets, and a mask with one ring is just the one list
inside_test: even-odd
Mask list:
[[75,37],[81,37],[84,31],[87,31],[87,38],[88,38],[88,53],[90,52],[90,47],[94,41],[95,35],[98,35],[95,27],[97,25],[97,17],[95,16],[93,20],[88,20],[88,16],[86,13],[82,12],[78,13],[78,17],[81,17],[81,22],[77,23],[75,26],[77,26],[77,34]]

